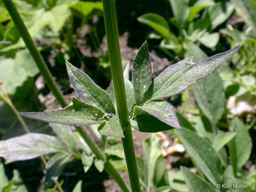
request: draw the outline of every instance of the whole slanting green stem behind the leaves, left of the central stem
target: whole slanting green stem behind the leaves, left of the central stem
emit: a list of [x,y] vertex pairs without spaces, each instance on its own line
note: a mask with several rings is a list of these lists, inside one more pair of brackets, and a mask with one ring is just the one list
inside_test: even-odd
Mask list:
[[[54,96],[57,99],[57,101],[59,102],[60,106],[62,108],[66,107],[67,102],[65,101],[62,93],[58,89],[58,86],[55,83],[55,81],[54,81],[54,79],[53,79],[53,77],[50,73],[50,70],[47,68],[41,54],[36,49],[36,46],[35,46],[32,38],[31,38],[31,36],[29,35],[28,30],[27,30],[25,24],[23,23],[23,21],[22,21],[20,15],[19,15],[17,9],[15,8],[14,4],[12,3],[11,0],[3,0],[3,3],[5,5],[7,11],[11,15],[12,20],[13,20],[15,26],[17,27],[21,37],[23,38],[23,41],[25,42],[30,54],[32,55],[34,61],[36,62],[40,73],[44,77],[44,81],[49,86],[49,89],[54,94]],[[111,169],[111,167],[113,167],[113,166],[112,165],[110,166],[109,165],[110,163],[106,162],[105,154],[97,146],[97,144],[89,137],[89,134],[87,134],[82,127],[76,127],[76,130],[81,134],[81,137],[85,140],[87,145],[90,146],[90,148],[95,153],[95,155],[98,158],[104,159],[105,164],[107,163],[107,165],[108,165],[108,166],[105,167],[106,171],[111,175],[111,177],[113,177],[116,180],[116,182],[121,187],[121,189],[123,191],[127,191],[127,192],[130,191],[129,187],[127,187],[127,185],[125,184],[123,179],[120,177],[118,172],[115,169]],[[60,190],[60,192],[62,192],[62,191]]]

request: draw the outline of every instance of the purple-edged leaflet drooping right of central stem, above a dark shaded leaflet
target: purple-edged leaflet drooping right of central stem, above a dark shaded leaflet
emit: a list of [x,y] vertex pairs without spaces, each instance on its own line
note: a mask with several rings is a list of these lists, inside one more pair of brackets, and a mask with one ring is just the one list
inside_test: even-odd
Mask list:
[[141,110],[158,118],[163,123],[169,125],[170,128],[180,129],[180,124],[173,110],[173,106],[167,101],[154,100],[146,102],[143,106],[135,106],[135,114]]

